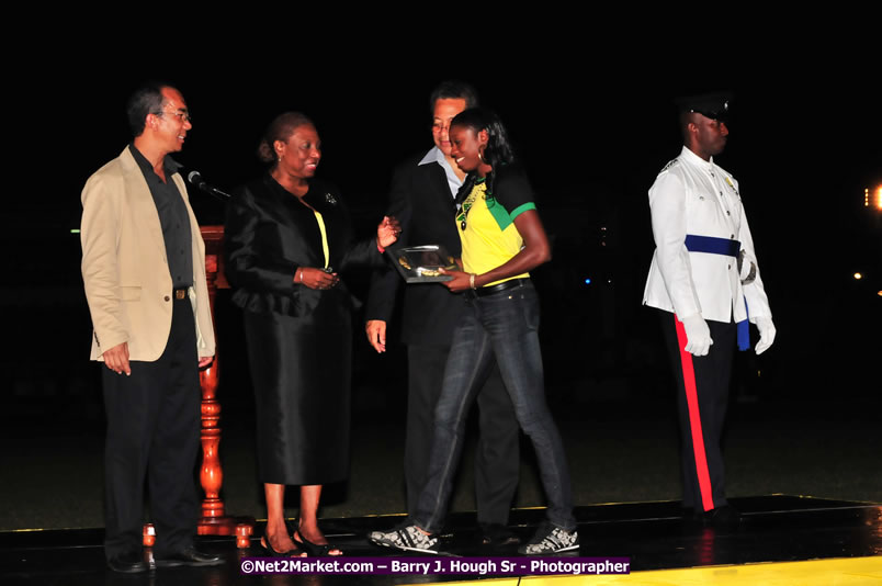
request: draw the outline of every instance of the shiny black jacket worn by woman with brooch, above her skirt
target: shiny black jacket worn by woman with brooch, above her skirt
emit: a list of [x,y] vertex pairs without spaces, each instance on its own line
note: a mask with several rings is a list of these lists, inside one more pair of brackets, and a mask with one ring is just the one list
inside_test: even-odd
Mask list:
[[[312,179],[304,201],[323,216],[329,266],[335,272],[346,271],[350,264],[383,266],[375,238],[352,241],[349,212],[336,188]],[[239,307],[324,325],[352,309],[342,281],[329,290],[294,284],[298,267],[325,266],[321,233],[313,211],[269,173],[234,193],[227,206],[224,243],[226,274],[236,286],[233,302]]]

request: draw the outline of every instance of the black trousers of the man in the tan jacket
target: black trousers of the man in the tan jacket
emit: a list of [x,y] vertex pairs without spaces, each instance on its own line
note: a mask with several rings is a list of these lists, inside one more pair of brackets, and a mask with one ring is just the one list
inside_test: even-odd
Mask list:
[[171,331],[159,360],[133,361],[131,376],[102,364],[108,559],[140,551],[145,475],[156,528],[154,554],[163,557],[189,546],[196,531],[201,393],[195,324],[189,300],[170,303]]

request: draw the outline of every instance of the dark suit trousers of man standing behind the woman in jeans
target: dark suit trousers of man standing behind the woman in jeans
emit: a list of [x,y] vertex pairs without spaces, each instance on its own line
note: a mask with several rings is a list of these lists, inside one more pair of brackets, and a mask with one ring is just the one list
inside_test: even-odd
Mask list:
[[[444,382],[449,346],[407,347],[408,397],[405,482],[407,511],[414,515],[426,484],[432,449],[434,410]],[[479,408],[475,453],[475,500],[478,523],[508,523],[508,514],[518,489],[520,433],[514,407],[499,369],[493,364],[489,377],[477,396]]]

